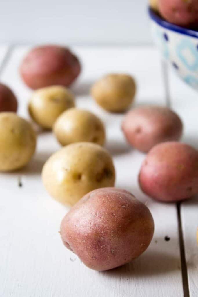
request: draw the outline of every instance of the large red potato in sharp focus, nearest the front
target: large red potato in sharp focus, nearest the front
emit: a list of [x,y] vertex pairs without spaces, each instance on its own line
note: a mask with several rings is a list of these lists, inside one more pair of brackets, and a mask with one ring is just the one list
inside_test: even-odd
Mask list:
[[61,238],[83,263],[103,271],[140,256],[153,238],[153,217],[131,193],[103,188],[85,195],[64,217]]

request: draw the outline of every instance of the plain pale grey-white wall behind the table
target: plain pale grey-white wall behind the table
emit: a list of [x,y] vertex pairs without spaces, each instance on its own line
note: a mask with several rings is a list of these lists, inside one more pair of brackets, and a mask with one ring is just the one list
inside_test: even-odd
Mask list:
[[1,0],[0,42],[151,42],[148,0]]

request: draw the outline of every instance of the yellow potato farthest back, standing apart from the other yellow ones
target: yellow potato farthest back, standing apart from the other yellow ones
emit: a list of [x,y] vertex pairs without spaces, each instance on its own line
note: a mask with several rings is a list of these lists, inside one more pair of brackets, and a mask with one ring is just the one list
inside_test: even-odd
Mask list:
[[136,85],[132,76],[109,74],[94,83],[91,95],[102,108],[122,112],[133,102],[135,91]]

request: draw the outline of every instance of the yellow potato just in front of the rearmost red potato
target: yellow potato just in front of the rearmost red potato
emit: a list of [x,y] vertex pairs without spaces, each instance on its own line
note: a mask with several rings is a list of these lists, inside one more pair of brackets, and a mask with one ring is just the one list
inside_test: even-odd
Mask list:
[[31,118],[42,128],[52,129],[65,110],[75,106],[74,95],[62,86],[51,86],[35,91],[28,105]]

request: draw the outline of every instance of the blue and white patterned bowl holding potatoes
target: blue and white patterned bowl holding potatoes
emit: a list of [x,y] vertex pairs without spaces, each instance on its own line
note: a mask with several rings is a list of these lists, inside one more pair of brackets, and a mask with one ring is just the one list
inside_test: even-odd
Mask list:
[[152,34],[162,55],[198,91],[198,31],[173,25],[149,8]]

